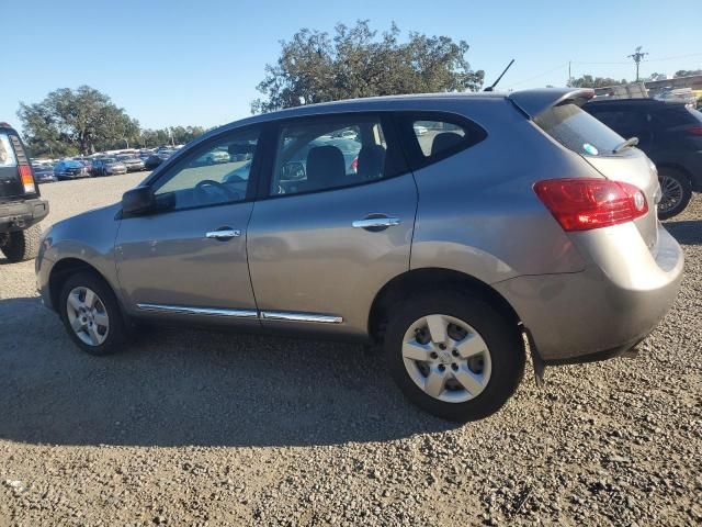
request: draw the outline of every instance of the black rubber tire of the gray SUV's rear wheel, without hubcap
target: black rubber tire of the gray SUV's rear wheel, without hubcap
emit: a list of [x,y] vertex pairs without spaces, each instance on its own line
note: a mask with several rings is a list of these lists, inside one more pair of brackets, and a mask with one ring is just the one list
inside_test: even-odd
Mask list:
[[[442,314],[475,328],[488,346],[490,379],[478,396],[463,403],[435,400],[409,377],[401,354],[405,333],[422,316]],[[386,363],[403,393],[422,410],[454,421],[476,421],[497,412],[514,393],[524,371],[524,349],[517,327],[511,327],[490,304],[457,293],[428,293],[405,302],[390,319],[385,335]]]

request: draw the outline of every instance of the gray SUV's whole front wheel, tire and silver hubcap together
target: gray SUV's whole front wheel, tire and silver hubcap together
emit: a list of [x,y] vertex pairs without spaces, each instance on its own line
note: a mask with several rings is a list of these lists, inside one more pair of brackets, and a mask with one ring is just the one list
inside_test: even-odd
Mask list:
[[90,355],[114,354],[127,340],[114,293],[104,280],[91,272],[79,272],[66,280],[59,312],[70,338]]

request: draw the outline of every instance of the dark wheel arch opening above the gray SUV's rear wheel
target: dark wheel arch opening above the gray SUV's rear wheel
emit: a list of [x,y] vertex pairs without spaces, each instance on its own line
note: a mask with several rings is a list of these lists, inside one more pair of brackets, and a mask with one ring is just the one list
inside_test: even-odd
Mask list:
[[521,319],[511,304],[489,284],[461,271],[442,268],[412,269],[387,282],[375,295],[369,313],[369,335],[382,340],[393,305],[421,290],[452,289],[477,295],[489,302],[508,321],[518,326]]

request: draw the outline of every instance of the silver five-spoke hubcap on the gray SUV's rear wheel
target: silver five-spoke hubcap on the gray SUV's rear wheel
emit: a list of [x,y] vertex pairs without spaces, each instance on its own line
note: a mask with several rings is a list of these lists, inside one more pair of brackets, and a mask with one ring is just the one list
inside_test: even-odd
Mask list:
[[403,361],[410,379],[428,395],[446,403],[477,397],[490,380],[490,351],[467,323],[431,314],[409,326]]

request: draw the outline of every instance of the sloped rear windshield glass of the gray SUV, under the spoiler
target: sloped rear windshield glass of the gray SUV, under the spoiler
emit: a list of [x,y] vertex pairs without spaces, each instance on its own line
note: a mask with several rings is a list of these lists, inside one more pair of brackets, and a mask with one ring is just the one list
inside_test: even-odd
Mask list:
[[612,156],[624,139],[576,104],[550,108],[534,122],[566,148],[585,156]]

